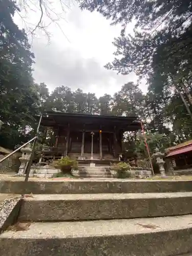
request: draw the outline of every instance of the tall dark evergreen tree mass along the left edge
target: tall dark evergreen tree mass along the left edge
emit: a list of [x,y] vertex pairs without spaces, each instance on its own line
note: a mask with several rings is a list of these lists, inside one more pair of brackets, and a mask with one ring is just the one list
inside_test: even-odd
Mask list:
[[0,1],[0,136],[1,145],[10,148],[27,139],[26,127],[38,111],[31,75],[34,55],[25,31],[13,22],[16,10],[14,1]]

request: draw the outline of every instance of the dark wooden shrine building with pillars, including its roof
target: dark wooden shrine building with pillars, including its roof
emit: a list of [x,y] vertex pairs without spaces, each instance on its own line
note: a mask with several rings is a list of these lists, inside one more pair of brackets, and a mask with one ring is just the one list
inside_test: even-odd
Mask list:
[[[41,126],[54,131],[54,145],[44,147],[42,157],[69,156],[78,161],[117,161],[122,153],[123,133],[140,130],[136,116],[102,116],[47,112]],[[45,141],[46,144],[46,141]]]

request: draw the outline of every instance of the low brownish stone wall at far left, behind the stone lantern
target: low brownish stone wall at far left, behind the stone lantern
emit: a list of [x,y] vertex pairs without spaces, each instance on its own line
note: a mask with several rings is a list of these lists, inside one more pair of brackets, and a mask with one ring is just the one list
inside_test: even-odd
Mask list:
[[[6,155],[0,153],[0,159],[4,158]],[[6,172],[18,172],[20,166],[20,161],[18,158],[11,156],[7,158],[3,163],[0,163],[0,173]]]

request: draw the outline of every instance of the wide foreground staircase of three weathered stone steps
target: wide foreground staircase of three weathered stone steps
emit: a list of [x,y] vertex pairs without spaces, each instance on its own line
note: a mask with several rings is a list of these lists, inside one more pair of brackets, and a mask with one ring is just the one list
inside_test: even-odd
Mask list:
[[[1,256],[192,255],[192,181],[0,181],[32,193],[0,234]],[[184,255],[183,255],[184,256]]]

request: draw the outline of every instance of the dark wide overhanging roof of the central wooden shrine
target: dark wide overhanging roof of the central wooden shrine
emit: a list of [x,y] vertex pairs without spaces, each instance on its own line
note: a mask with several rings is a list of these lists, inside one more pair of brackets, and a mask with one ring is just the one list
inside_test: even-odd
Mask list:
[[41,126],[66,126],[68,123],[73,125],[73,129],[75,129],[74,125],[77,125],[77,128],[86,125],[90,129],[92,127],[101,129],[101,126],[104,126],[105,130],[112,130],[114,126],[118,127],[118,130],[123,129],[124,131],[137,131],[141,129],[140,121],[136,116],[125,117],[49,111],[41,119]]

